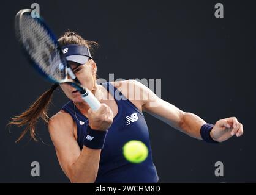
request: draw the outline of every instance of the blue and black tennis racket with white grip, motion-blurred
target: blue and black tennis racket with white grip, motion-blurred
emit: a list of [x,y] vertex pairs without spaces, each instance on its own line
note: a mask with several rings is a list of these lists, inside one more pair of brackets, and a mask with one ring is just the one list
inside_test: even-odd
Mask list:
[[53,83],[72,85],[92,110],[100,107],[100,102],[73,73],[55,35],[42,18],[32,18],[31,9],[20,10],[15,16],[15,34],[29,61],[43,77]]

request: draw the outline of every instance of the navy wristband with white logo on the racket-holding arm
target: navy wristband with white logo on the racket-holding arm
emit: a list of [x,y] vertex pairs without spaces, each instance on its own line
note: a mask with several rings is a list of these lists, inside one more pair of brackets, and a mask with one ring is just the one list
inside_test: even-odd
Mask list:
[[88,125],[83,138],[83,145],[91,149],[102,149],[108,130],[94,130]]

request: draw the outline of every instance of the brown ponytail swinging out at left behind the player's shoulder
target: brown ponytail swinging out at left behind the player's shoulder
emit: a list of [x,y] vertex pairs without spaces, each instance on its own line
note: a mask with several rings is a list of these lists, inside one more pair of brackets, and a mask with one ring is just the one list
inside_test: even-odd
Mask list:
[[36,123],[41,118],[48,123],[49,117],[47,115],[48,105],[51,102],[53,91],[58,85],[52,85],[51,88],[43,93],[37,100],[31,104],[28,110],[21,113],[21,115],[14,116],[7,126],[15,125],[18,127],[25,126],[20,137],[15,141],[17,143],[29,131],[31,138],[37,141],[36,138]]

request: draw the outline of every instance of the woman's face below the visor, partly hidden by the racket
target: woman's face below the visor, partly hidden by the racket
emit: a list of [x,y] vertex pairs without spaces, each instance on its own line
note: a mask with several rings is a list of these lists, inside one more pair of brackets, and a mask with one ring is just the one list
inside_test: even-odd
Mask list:
[[[89,60],[84,65],[79,65],[75,62],[69,62],[70,67],[73,69],[75,76],[81,84],[92,91],[94,87],[94,75],[96,74],[96,64],[93,60]],[[70,79],[70,78],[69,78]],[[81,94],[72,86],[68,84],[61,84],[63,92],[73,102],[83,102]]]

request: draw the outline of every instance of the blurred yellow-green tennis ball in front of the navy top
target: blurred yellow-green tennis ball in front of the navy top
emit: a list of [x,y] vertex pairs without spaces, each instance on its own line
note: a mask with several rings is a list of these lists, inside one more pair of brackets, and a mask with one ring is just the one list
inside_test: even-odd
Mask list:
[[124,157],[131,163],[142,163],[148,157],[148,147],[142,141],[128,141],[122,149]]

